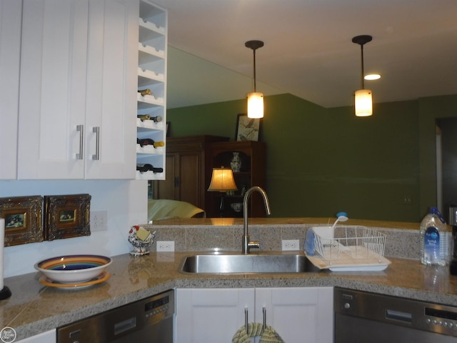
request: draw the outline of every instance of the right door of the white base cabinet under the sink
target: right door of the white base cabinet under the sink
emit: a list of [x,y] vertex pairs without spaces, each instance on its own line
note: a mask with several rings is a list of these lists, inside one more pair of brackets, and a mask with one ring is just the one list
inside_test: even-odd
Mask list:
[[256,322],[287,343],[333,342],[333,287],[256,288]]

